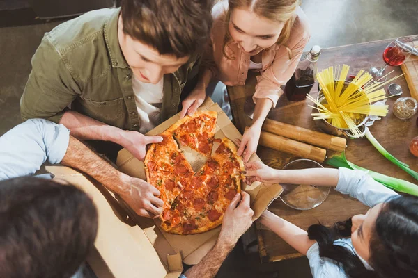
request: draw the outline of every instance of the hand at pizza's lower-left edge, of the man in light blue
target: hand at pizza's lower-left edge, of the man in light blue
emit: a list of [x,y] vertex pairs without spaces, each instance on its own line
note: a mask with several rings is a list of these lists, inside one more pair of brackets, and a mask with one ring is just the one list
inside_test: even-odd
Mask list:
[[155,218],[162,213],[164,202],[157,198],[160,191],[142,179],[129,177],[123,174],[121,179],[124,190],[120,193],[122,199],[137,215]]

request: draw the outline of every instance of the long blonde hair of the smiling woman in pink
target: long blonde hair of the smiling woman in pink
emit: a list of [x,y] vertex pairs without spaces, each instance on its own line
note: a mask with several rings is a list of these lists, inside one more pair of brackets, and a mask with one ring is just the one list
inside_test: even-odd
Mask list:
[[231,11],[235,8],[246,8],[252,13],[256,13],[259,17],[265,17],[273,22],[284,23],[276,44],[284,44],[291,36],[291,28],[295,22],[295,10],[300,6],[301,0],[228,0],[228,10],[225,17],[225,38],[224,38],[224,56],[230,58],[226,54],[226,45],[231,41],[232,37],[229,33],[229,20],[231,19]]

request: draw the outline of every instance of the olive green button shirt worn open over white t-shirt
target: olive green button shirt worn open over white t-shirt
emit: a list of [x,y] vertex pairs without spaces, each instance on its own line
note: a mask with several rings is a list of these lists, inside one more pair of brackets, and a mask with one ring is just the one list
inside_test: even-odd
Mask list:
[[[20,100],[24,120],[59,123],[67,106],[95,120],[139,131],[132,70],[118,42],[120,9],[86,13],[45,33],[32,58],[32,72]],[[175,115],[187,79],[198,72],[196,58],[164,76],[160,120]]]

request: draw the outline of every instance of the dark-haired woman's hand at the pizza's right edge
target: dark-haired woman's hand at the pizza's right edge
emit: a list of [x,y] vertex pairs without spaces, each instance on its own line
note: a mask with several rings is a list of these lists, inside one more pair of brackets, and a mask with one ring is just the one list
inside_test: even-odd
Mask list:
[[280,170],[273,169],[261,161],[254,161],[245,164],[245,182],[251,184],[254,181],[262,183],[277,183]]

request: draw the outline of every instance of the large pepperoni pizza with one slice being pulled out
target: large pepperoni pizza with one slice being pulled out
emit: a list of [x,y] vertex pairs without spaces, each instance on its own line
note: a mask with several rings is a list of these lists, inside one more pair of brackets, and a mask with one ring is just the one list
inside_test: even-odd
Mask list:
[[[241,191],[245,170],[237,147],[229,140],[215,140],[217,113],[199,111],[186,116],[161,134],[145,158],[148,183],[160,190],[164,201],[162,229],[171,234],[199,234],[222,224],[226,208]],[[176,140],[208,157],[194,172]],[[212,152],[213,143],[219,146]]]

